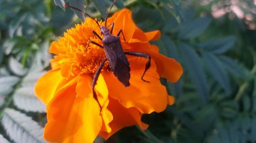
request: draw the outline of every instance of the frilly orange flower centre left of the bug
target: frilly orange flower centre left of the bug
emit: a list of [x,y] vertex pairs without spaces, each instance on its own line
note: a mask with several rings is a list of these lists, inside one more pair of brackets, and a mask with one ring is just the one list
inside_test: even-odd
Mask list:
[[[99,24],[103,25],[103,22],[99,21]],[[102,45],[101,40],[92,33],[92,30],[100,35],[96,22],[87,18],[85,22],[68,30],[64,37],[58,40],[57,47],[60,52],[55,59],[69,75],[94,74],[105,59],[103,48],[93,43],[90,43],[86,50],[90,40]],[[109,63],[106,62],[103,70],[108,68]]]

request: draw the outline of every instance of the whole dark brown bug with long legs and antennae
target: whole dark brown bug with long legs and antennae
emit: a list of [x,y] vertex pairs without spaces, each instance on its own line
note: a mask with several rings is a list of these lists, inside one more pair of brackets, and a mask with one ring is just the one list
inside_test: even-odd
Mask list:
[[108,14],[106,15],[105,19],[104,19],[104,23],[105,25],[104,26],[100,26],[98,21],[95,20],[93,17],[91,17],[90,15],[88,15],[87,13],[85,13],[84,11],[80,10],[80,9],[77,9],[75,7],[72,7],[72,6],[69,6],[69,5],[64,5],[65,7],[69,7],[69,8],[72,8],[72,9],[75,9],[75,10],[78,10],[80,12],[82,12],[83,14],[86,14],[87,16],[89,16],[91,19],[93,19],[97,25],[99,26],[100,28],[100,34],[103,35],[103,38],[101,38],[95,31],[92,31],[92,33],[102,41],[102,44],[103,45],[100,45],[94,41],[89,41],[88,42],[88,45],[86,47],[86,50],[89,46],[89,44],[95,44],[101,48],[104,49],[105,51],[105,55],[106,55],[106,58],[101,62],[100,66],[98,67],[97,71],[95,72],[94,74],[94,77],[93,77],[93,81],[92,81],[92,90],[93,90],[93,97],[94,99],[98,102],[99,104],[99,107],[100,107],[100,112],[101,112],[101,105],[98,101],[98,98],[97,98],[97,94],[96,92],[94,91],[94,87],[96,85],[96,81],[100,75],[100,72],[104,66],[104,63],[106,61],[109,62],[109,65],[110,65],[110,69],[111,71],[114,73],[114,75],[117,77],[117,79],[123,83],[123,85],[125,87],[129,86],[130,85],[130,64],[125,56],[125,54],[127,55],[133,55],[133,56],[139,56],[139,57],[142,57],[142,58],[148,58],[148,61],[145,65],[145,69],[144,69],[144,72],[141,76],[141,80],[145,81],[145,82],[149,82],[149,81],[146,81],[143,79],[146,71],[150,68],[151,66],[151,57],[150,55],[148,55],[147,53],[143,53],[143,52],[136,52],[136,51],[127,51],[127,52],[124,52],[123,49],[122,49],[122,46],[121,46],[121,42],[120,42],[120,37],[119,35],[122,34],[123,36],[123,39],[125,41],[125,37],[123,35],[123,32],[122,30],[119,30],[117,35],[114,36],[112,35],[112,32],[113,32],[113,28],[114,28],[114,22],[111,23],[111,29],[109,30],[108,27],[110,26],[106,26],[106,21],[108,20],[108,16],[111,12],[111,9],[112,7],[114,6],[114,4],[116,3],[116,0],[113,1],[113,4],[108,12]]

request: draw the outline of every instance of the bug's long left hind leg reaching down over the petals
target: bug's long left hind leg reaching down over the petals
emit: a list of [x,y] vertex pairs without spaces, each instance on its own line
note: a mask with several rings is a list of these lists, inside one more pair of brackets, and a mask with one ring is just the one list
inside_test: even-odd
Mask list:
[[96,92],[94,91],[94,87],[95,87],[95,85],[96,85],[96,82],[97,82],[97,80],[98,80],[98,78],[99,78],[99,74],[100,74],[100,72],[101,72],[101,70],[102,70],[102,68],[103,68],[105,62],[106,62],[106,59],[104,59],[103,62],[99,65],[99,68],[97,69],[96,73],[94,74],[93,82],[92,82],[93,98],[98,102],[99,107],[100,107],[100,112],[99,112],[99,114],[101,114],[101,109],[102,109],[102,107],[101,107],[101,105],[100,105],[100,103],[99,103],[97,94],[96,94]]

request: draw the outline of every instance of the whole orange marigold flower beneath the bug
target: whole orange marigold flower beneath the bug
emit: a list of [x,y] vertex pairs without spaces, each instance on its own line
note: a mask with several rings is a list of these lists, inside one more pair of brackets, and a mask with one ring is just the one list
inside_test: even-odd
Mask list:
[[[144,76],[150,82],[140,79],[147,62],[145,58],[127,55],[131,66],[129,87],[124,87],[109,70],[109,63],[105,63],[95,86],[102,106],[99,114],[91,86],[105,53],[94,44],[85,50],[89,40],[102,44],[92,33],[94,30],[100,34],[98,25],[87,18],[51,44],[49,51],[56,54],[51,61],[52,70],[43,75],[35,87],[38,98],[47,104],[48,123],[44,131],[47,141],[93,142],[97,135],[106,139],[132,125],[139,125],[144,130],[148,127],[140,120],[144,113],[161,112],[167,104],[174,103],[174,97],[168,95],[159,79],[164,77],[176,82],[183,70],[179,63],[160,54],[158,47],[148,42],[159,39],[160,32],[144,33],[134,24],[128,9],[115,13],[107,25],[112,22],[115,23],[114,35],[123,30],[126,41],[122,36],[120,41],[124,51],[150,54],[151,67]],[[99,24],[104,23],[100,21]]]

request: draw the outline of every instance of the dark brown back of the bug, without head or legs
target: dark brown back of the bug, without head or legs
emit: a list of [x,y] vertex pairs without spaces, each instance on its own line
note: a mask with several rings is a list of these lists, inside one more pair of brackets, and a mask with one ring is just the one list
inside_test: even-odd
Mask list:
[[110,63],[110,67],[114,72],[114,75],[124,84],[125,87],[127,87],[130,85],[130,64],[123,52],[119,37],[111,36],[109,38],[113,38],[111,39],[113,41],[108,44],[103,43],[106,58]]

